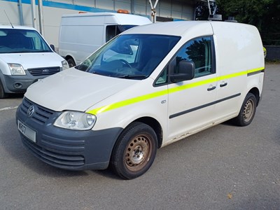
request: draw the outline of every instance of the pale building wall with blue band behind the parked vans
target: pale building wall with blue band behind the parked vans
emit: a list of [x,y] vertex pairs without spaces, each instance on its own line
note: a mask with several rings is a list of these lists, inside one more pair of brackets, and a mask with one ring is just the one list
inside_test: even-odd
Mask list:
[[[43,1],[43,36],[48,43],[58,47],[59,25],[62,15],[78,13],[79,11],[102,12],[128,10],[137,15],[151,15],[148,0],[52,0]],[[153,3],[155,0],[152,1]],[[190,2],[190,3],[188,3]],[[156,7],[157,15],[165,18],[193,20],[192,0],[160,0]],[[31,5],[29,0],[22,0],[22,14],[24,25],[32,26]],[[8,14],[13,25],[20,25],[20,13],[17,0],[0,0],[0,24],[9,25]],[[36,6],[36,26],[38,27],[38,7]]]

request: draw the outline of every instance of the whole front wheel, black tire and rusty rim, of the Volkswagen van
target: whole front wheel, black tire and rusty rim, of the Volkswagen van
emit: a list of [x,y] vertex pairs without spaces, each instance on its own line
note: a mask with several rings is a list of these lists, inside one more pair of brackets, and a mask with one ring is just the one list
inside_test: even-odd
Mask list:
[[127,127],[113,149],[111,169],[123,179],[141,176],[153,164],[158,149],[155,131],[144,123]]

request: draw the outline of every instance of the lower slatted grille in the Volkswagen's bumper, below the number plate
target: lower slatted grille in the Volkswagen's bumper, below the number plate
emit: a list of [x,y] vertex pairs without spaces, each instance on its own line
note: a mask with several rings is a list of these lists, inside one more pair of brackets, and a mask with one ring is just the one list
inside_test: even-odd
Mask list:
[[55,167],[64,169],[75,169],[85,165],[85,158],[82,155],[64,155],[62,153],[55,153],[46,148],[42,148],[37,144],[29,141],[25,136],[20,134],[23,144],[40,160]]

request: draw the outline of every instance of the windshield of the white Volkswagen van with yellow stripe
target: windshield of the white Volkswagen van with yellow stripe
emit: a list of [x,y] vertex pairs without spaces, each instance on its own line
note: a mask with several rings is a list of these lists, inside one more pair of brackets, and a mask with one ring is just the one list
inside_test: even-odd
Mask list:
[[156,34],[116,36],[76,69],[103,76],[144,79],[150,76],[180,38]]

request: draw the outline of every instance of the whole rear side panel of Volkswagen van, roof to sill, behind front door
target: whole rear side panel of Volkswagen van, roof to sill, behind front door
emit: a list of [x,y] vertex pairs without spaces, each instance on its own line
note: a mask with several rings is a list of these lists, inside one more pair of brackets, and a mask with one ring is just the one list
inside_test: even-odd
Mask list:
[[263,72],[250,75],[247,71],[264,68],[262,41],[258,29],[251,25],[212,22],[218,73],[216,123],[238,115],[246,94],[252,87],[262,91]]

